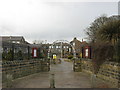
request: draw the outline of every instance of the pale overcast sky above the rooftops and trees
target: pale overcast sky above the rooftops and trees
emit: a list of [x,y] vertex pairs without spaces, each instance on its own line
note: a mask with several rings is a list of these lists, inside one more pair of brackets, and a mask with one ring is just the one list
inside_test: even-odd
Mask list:
[[[113,0],[114,1],[114,0]],[[0,34],[24,36],[26,41],[79,40],[97,17],[118,14],[115,2],[60,0],[0,0]]]

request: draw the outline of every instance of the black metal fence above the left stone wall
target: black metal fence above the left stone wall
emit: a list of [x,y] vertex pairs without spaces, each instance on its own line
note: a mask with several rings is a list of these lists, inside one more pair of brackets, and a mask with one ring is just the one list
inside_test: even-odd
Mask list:
[[42,47],[37,47],[38,57],[32,57],[32,47],[30,44],[17,44],[17,43],[2,43],[2,60],[30,60],[30,59],[40,59],[42,58],[43,53]]

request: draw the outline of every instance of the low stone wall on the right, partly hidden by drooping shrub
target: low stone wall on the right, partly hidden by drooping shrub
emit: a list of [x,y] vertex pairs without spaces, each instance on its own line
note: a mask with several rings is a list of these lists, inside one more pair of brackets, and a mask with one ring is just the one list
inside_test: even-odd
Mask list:
[[[92,62],[82,60],[82,71],[92,73]],[[114,62],[105,62],[101,65],[98,74],[98,79],[109,82],[113,87],[120,87],[120,64]]]

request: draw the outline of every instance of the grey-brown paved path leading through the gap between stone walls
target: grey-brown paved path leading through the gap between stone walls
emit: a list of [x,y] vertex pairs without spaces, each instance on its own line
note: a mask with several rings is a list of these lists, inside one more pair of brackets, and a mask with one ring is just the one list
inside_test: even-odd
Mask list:
[[14,82],[15,88],[49,88],[50,74],[55,74],[56,88],[90,88],[89,75],[73,72],[72,62],[62,61],[61,64],[51,65],[50,72],[40,72],[29,75]]

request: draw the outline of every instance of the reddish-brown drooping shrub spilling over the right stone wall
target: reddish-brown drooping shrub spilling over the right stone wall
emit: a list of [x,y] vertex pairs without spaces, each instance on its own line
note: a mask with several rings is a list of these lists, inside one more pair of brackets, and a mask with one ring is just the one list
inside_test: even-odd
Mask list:
[[114,47],[108,43],[97,43],[93,46],[93,72],[98,73],[100,66],[105,61],[110,61],[113,59]]

